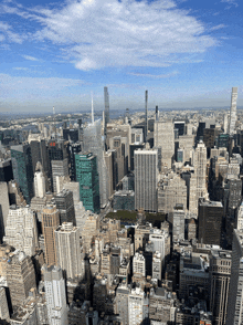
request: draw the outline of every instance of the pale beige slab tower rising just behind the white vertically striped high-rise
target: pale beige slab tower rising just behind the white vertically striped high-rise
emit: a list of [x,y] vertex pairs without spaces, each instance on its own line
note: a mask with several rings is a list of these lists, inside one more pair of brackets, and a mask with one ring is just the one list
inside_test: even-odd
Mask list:
[[159,161],[161,168],[170,169],[172,167],[172,160],[175,155],[175,135],[173,123],[171,120],[156,120],[154,127],[155,148],[161,148],[161,161]]

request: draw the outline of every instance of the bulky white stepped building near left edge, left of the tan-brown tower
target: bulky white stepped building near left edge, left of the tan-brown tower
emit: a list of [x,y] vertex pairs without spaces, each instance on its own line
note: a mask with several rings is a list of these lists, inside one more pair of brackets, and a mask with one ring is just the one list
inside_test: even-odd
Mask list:
[[38,229],[34,213],[30,208],[10,207],[3,242],[24,251],[29,256],[35,254],[39,245]]

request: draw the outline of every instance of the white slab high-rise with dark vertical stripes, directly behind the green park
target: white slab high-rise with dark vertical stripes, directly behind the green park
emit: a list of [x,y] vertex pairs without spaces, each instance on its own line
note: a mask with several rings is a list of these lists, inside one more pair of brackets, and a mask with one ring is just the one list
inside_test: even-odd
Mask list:
[[138,149],[135,160],[135,209],[157,212],[158,150]]

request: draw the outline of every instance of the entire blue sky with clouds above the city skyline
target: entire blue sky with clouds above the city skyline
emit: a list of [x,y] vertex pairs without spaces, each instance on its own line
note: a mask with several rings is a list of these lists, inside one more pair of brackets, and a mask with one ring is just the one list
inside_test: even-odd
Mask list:
[[0,112],[243,105],[240,0],[0,0]]

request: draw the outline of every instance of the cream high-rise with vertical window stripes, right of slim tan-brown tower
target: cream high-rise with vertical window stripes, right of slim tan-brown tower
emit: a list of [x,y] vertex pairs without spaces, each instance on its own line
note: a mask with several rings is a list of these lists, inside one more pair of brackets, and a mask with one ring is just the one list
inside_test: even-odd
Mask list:
[[84,275],[84,261],[81,259],[80,229],[72,222],[63,222],[55,230],[57,264],[66,272],[66,279]]

